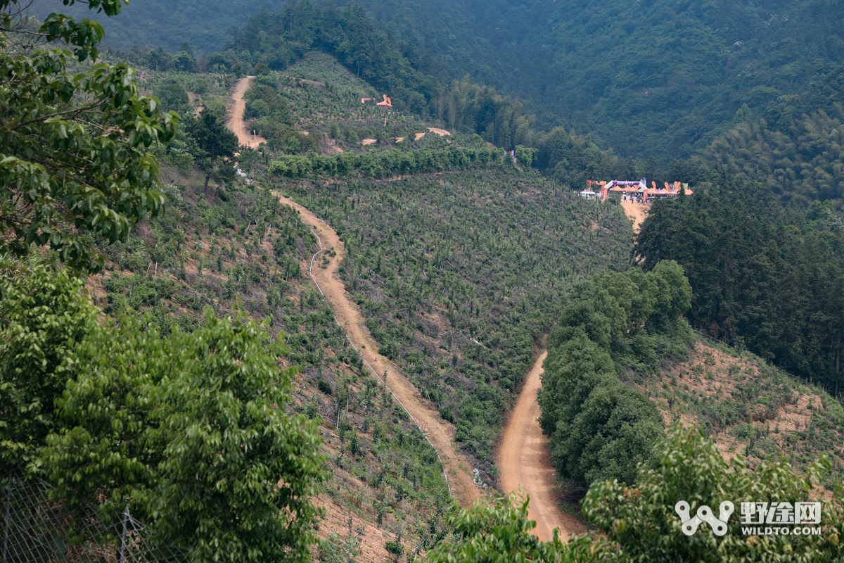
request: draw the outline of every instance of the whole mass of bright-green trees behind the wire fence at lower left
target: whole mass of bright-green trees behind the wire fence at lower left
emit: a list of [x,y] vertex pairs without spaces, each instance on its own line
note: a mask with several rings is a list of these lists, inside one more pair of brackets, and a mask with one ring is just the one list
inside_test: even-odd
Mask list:
[[43,266],[0,285],[3,465],[55,485],[70,513],[129,506],[192,560],[309,560],[326,475],[314,423],[285,411],[284,333],[210,309],[189,334],[134,313],[100,323],[80,285]]

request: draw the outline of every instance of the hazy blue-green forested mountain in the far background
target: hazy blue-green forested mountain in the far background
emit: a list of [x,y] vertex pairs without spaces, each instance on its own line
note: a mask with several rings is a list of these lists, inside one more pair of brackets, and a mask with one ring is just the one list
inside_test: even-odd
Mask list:
[[[737,112],[761,116],[782,96],[803,94],[844,54],[844,9],[836,0],[355,3],[392,41],[408,42],[414,70],[444,84],[468,73],[526,100],[546,131],[576,127],[604,148],[666,163],[706,148]],[[37,0],[35,15],[52,4]],[[248,14],[285,5],[292,30],[295,16],[318,3],[152,1],[133,4],[107,30],[124,51],[176,51],[184,41],[197,52],[216,51]],[[267,41],[278,38],[267,32]]]

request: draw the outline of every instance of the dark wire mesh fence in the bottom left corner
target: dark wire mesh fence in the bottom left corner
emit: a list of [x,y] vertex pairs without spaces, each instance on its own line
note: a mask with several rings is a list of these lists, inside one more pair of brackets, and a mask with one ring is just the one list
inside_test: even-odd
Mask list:
[[71,515],[53,500],[53,487],[26,478],[20,468],[4,475],[2,563],[180,563],[187,551],[157,542],[126,508],[117,522],[100,522],[93,510]]

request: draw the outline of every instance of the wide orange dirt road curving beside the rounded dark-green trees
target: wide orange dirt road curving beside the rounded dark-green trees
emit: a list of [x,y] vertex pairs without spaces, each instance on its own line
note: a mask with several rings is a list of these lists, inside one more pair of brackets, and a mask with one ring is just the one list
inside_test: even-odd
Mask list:
[[554,492],[555,469],[551,465],[547,440],[539,428],[537,392],[542,387],[539,376],[547,355],[548,352],[543,352],[527,374],[522,394],[501,436],[499,482],[505,492],[516,491],[521,486],[530,495],[527,515],[536,520],[533,533],[538,539],[548,541],[554,536],[554,528],[560,528],[560,539],[565,541],[571,534],[585,532],[586,528],[575,517],[560,510]]

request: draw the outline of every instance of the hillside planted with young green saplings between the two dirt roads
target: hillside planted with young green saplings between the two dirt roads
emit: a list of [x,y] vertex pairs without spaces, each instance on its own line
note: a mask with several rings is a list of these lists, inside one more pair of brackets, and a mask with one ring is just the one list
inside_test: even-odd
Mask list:
[[565,289],[627,262],[621,209],[512,164],[279,187],[337,230],[347,252],[339,271],[380,353],[456,425],[481,476],[494,476],[506,399]]

